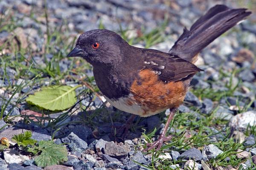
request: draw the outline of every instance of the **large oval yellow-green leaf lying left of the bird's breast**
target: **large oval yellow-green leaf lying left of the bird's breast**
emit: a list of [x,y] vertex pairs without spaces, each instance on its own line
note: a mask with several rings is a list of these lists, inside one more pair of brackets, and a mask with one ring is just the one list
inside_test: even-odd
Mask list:
[[76,103],[75,90],[78,87],[81,85],[76,87],[67,85],[44,87],[41,91],[35,92],[34,95],[29,95],[26,101],[50,111],[63,111]]

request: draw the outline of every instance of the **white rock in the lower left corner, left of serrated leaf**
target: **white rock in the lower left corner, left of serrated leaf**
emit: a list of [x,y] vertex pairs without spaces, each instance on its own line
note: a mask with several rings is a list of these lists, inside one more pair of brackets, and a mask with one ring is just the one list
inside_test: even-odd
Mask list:
[[24,161],[29,160],[28,156],[21,155],[17,150],[13,150],[13,149],[3,151],[3,157],[8,164],[12,164],[12,163],[21,164]]

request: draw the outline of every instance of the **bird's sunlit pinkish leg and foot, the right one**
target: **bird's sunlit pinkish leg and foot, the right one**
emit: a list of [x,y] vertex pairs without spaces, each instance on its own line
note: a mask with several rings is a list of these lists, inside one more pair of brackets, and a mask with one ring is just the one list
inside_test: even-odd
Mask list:
[[170,111],[171,111],[171,113],[170,113],[169,118],[168,118],[168,120],[166,122],[166,125],[165,125],[165,127],[163,129],[163,132],[160,134],[160,136],[158,137],[157,141],[155,141],[153,143],[148,143],[147,147],[143,151],[148,151],[148,150],[151,150],[151,149],[153,149],[155,147],[157,147],[156,150],[160,150],[160,148],[163,145],[163,142],[167,142],[167,141],[172,139],[172,135],[166,137],[166,132],[168,130],[168,127],[170,125],[170,122],[171,122],[173,116],[175,115],[175,112],[177,111],[177,108],[172,108],[172,109],[170,109]]

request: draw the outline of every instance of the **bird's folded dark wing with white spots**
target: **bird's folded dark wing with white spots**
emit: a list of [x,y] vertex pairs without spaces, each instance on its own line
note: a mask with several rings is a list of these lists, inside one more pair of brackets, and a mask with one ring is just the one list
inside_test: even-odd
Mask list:
[[145,57],[142,69],[157,71],[156,74],[158,73],[159,79],[163,82],[177,82],[198,71],[203,71],[176,55],[157,50],[146,50],[143,53]]

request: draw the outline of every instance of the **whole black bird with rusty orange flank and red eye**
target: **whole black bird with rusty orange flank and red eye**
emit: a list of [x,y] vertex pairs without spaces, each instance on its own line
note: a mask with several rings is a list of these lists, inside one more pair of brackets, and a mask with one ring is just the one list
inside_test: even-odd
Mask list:
[[148,117],[170,109],[169,118],[158,139],[145,151],[160,150],[169,124],[191,88],[199,71],[194,63],[198,53],[221,34],[251,14],[246,8],[216,5],[210,8],[183,34],[168,53],[129,45],[119,34],[94,29],[81,34],[68,57],[82,57],[93,66],[96,85],[115,108]]

